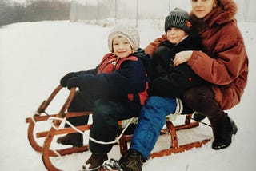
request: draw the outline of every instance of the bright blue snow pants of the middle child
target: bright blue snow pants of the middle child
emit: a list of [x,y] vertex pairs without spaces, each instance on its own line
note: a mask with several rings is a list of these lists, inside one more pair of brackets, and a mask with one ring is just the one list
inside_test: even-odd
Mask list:
[[165,124],[166,116],[174,113],[176,109],[175,98],[152,96],[143,105],[138,125],[134,130],[130,149],[141,153],[146,161],[150,156],[160,131]]

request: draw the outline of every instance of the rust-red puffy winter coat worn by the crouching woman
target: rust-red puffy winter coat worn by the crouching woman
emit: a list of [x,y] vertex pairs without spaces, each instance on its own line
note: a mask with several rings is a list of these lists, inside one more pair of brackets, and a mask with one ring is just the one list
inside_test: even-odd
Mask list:
[[[221,0],[222,8],[216,7],[199,22],[190,14],[198,33],[202,36],[202,51],[193,52],[187,64],[207,82],[212,83],[215,100],[222,109],[237,105],[246,87],[248,57],[242,34],[234,20],[236,6],[233,0]],[[223,10],[225,9],[225,10]],[[152,55],[166,35],[146,46]]]

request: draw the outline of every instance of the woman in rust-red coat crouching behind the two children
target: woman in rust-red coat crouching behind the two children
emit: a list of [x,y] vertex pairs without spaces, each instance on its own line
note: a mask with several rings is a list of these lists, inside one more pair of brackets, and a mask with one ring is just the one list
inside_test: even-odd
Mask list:
[[[203,50],[182,51],[176,54],[174,66],[183,62],[199,77],[210,82],[186,91],[182,101],[190,109],[208,117],[213,127],[213,149],[224,149],[231,144],[237,128],[223,110],[230,109],[241,100],[248,75],[248,58],[242,34],[234,14],[233,0],[190,0],[190,18],[202,36]],[[166,36],[146,47],[152,55]]]

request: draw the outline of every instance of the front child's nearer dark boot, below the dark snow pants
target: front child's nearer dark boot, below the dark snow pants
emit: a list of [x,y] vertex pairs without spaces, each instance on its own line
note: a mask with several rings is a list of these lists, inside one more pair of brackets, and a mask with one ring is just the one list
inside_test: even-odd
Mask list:
[[82,166],[84,170],[101,170],[102,164],[108,159],[106,153],[92,153],[86,161],[86,165]]

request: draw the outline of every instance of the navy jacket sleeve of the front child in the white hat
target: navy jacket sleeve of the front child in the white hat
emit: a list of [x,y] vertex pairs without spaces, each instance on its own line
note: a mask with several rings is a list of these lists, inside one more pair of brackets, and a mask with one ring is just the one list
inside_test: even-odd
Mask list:
[[90,93],[120,95],[142,92],[146,88],[146,73],[141,60],[122,62],[111,74],[78,76],[78,88]]

